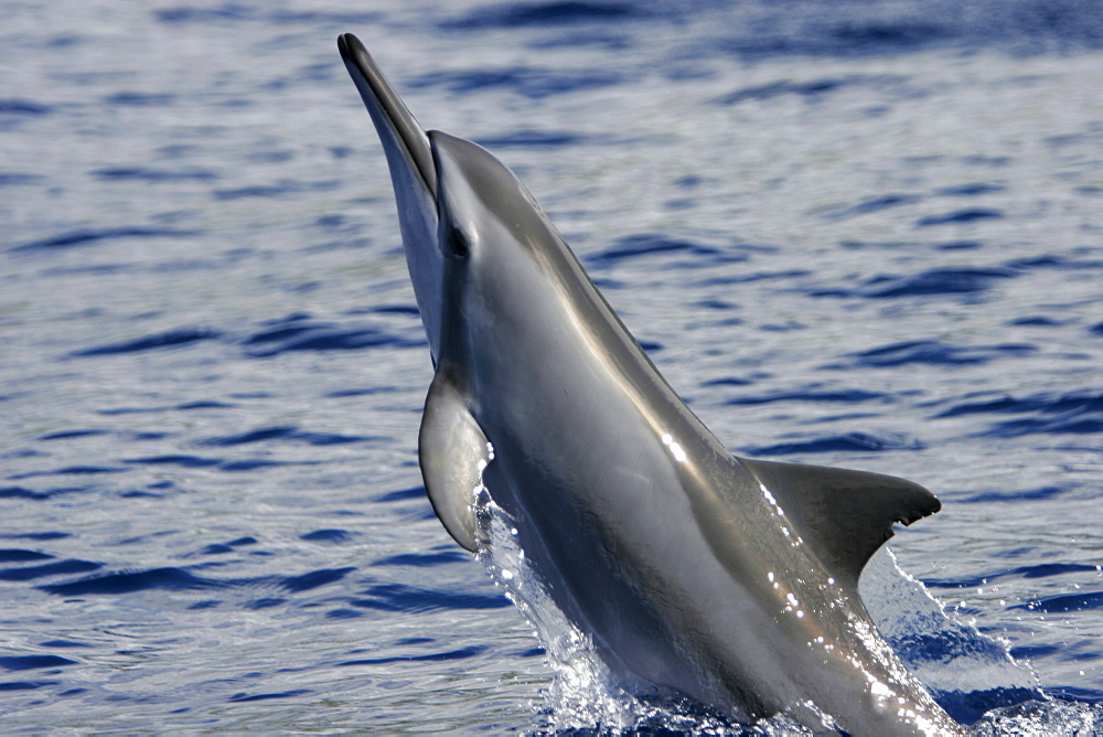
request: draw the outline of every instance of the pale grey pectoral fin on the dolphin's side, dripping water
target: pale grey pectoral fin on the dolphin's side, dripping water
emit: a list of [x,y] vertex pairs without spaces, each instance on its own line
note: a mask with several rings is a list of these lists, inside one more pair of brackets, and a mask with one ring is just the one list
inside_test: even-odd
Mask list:
[[418,461],[432,511],[452,538],[474,553],[479,547],[475,493],[493,458],[486,436],[456,385],[438,371],[425,400],[418,432]]

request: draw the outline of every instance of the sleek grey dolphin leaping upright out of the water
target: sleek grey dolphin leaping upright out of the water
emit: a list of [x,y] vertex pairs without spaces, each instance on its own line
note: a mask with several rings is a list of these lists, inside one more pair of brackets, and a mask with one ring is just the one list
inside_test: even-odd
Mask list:
[[486,545],[481,485],[614,673],[736,719],[956,735],[858,596],[922,487],[733,457],[666,384],[533,196],[425,132],[353,35],[341,56],[387,156],[436,374],[418,438],[433,510]]

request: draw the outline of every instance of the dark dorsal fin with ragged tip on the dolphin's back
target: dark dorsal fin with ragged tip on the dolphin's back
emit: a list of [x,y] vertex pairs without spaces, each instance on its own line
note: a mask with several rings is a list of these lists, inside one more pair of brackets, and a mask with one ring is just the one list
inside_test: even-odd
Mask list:
[[923,487],[867,471],[738,458],[769,492],[832,575],[856,590],[869,557],[892,536],[942,504]]

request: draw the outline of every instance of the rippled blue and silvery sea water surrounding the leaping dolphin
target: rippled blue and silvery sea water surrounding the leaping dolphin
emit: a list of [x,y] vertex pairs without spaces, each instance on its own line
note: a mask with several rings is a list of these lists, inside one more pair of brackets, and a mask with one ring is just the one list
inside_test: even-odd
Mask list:
[[[420,488],[345,31],[733,451],[940,495],[892,549],[961,629],[893,642],[959,714],[1103,724],[1103,10],[395,4],[0,9],[4,733],[563,724]],[[1056,701],[955,672],[982,634]]]

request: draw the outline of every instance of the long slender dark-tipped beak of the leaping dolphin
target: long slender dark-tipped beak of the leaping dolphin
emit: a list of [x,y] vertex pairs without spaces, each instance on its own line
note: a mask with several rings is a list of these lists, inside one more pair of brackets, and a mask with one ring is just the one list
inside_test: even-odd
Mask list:
[[[342,33],[338,38],[338,49],[383,140],[390,170],[395,171],[399,165],[415,170],[429,194],[436,197],[437,174],[433,171],[429,137],[383,76],[360,39],[352,33]],[[395,156],[401,157],[404,161],[395,161]]]

